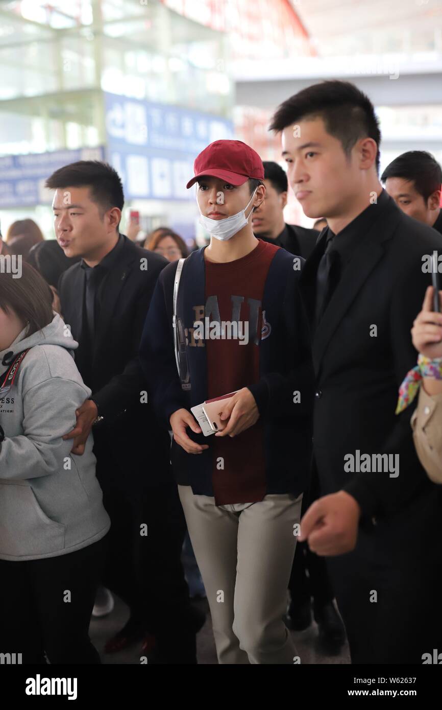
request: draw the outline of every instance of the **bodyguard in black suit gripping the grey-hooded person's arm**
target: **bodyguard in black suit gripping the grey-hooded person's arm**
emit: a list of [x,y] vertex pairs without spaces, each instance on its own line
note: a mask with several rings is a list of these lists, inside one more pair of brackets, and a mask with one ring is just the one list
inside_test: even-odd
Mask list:
[[93,426],[96,474],[111,518],[103,582],[131,609],[112,648],[148,632],[157,640],[155,662],[195,663],[170,439],[150,410],[138,362],[145,315],[167,261],[119,234],[123,188],[109,165],[67,165],[47,186],[55,189],[59,244],[66,256],[82,257],[59,283],[65,322],[79,342],[77,366],[92,390],[69,437],[81,454]]

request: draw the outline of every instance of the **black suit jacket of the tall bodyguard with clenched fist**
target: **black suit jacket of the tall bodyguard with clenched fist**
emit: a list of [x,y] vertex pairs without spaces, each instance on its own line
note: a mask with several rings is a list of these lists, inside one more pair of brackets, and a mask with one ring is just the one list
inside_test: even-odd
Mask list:
[[[325,241],[326,231],[301,277],[310,322]],[[422,256],[433,249],[442,249],[441,235],[407,217],[388,197],[371,229],[361,234],[313,334],[314,464],[321,493],[345,489],[360,504],[363,520],[400,510],[433,486],[414,450],[414,407],[394,413],[399,385],[416,365],[410,330],[431,284]],[[376,337],[370,336],[372,326]],[[399,454],[399,476],[344,471],[344,457],[357,449],[361,455]]]

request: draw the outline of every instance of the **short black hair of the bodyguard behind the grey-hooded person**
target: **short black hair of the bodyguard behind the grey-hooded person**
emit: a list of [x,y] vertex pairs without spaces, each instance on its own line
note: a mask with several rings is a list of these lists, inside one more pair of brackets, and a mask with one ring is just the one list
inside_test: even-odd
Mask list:
[[55,170],[45,187],[57,190],[63,187],[90,187],[91,200],[101,207],[104,214],[112,207],[123,209],[124,194],[121,178],[109,163],[101,160],[78,160]]

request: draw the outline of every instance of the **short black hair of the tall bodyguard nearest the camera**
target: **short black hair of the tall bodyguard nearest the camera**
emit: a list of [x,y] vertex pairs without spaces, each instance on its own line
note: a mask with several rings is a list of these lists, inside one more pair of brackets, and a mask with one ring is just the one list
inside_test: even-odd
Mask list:
[[270,131],[283,131],[306,118],[319,117],[326,131],[341,141],[346,155],[363,137],[377,145],[376,169],[380,165],[380,128],[375,107],[366,94],[351,82],[330,80],[302,89],[277,108]]

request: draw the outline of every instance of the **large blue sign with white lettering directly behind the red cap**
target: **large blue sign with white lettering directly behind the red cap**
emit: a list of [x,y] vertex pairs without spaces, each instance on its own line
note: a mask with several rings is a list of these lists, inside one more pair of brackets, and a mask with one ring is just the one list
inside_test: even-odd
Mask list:
[[126,199],[194,200],[186,190],[194,159],[212,141],[233,138],[232,121],[107,92],[104,100],[107,159]]

